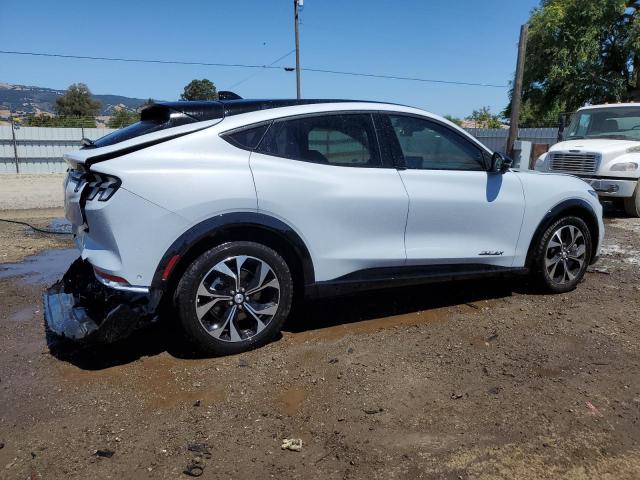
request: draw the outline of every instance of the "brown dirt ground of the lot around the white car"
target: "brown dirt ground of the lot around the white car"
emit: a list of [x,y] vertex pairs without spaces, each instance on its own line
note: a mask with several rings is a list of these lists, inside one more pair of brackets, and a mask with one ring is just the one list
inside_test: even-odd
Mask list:
[[[0,266],[0,478],[640,478],[640,221],[607,227],[572,293],[495,281],[308,303],[226,358],[194,356],[170,324],[50,349],[40,295],[62,265]],[[68,246],[0,232],[5,262]]]

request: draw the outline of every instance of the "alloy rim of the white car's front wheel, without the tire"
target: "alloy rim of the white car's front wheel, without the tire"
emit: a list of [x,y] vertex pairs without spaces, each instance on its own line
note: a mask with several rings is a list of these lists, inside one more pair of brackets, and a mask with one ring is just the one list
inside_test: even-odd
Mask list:
[[574,225],[558,228],[547,245],[544,265],[551,281],[563,285],[572,282],[586,261],[584,235]]

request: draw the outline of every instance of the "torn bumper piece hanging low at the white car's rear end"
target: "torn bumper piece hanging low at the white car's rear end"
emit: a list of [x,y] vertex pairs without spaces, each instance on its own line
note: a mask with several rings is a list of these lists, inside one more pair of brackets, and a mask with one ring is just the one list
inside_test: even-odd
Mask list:
[[112,343],[155,320],[150,295],[105,287],[80,258],[43,297],[47,328],[70,340]]

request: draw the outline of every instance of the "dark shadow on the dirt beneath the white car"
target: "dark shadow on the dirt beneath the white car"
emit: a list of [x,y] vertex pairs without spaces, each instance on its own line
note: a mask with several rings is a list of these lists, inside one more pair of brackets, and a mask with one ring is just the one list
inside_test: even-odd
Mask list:
[[[453,305],[510,296],[522,280],[491,279],[393,288],[299,302],[283,327],[289,333],[321,330],[365,320],[428,311]],[[273,341],[282,338],[279,335]],[[179,331],[175,314],[163,311],[161,320],[113,344],[78,344],[47,332],[47,345],[55,358],[83,370],[102,370],[135,362],[162,352],[180,359],[206,358],[195,351]]]

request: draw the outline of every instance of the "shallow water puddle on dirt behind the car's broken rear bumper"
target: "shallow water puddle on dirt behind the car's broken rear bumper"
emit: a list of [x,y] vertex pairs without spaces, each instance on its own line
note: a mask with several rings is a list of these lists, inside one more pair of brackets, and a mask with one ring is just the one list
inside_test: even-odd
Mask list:
[[62,277],[79,256],[75,248],[45,250],[20,263],[0,264],[0,280],[20,277],[29,285],[50,284]]

